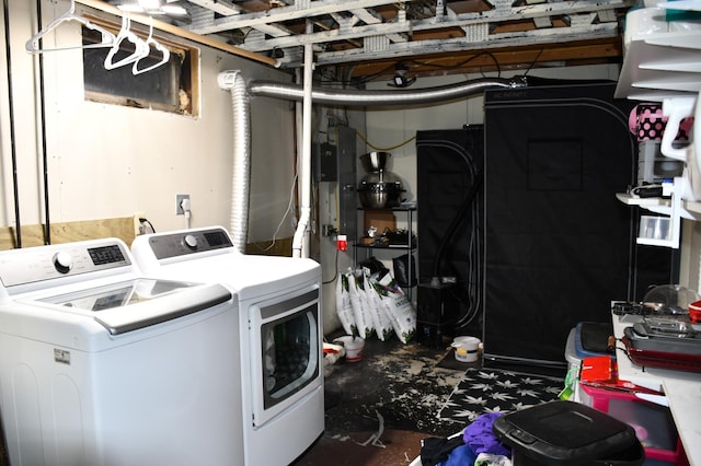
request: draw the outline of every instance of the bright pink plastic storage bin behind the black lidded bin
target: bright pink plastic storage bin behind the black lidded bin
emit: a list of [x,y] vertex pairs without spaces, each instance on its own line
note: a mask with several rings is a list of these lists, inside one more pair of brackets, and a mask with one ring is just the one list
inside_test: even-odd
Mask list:
[[[623,391],[581,384],[582,403],[623,421],[636,432],[648,463],[686,465],[686,455],[669,408]],[[653,463],[656,459],[662,463]]]

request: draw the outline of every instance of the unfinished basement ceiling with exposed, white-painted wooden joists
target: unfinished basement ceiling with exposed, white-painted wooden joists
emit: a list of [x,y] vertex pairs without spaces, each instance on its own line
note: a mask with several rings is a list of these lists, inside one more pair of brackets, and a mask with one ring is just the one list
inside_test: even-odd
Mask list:
[[[174,0],[168,0],[174,1]],[[112,3],[118,3],[112,0]],[[177,0],[179,26],[348,81],[622,60],[630,0]]]

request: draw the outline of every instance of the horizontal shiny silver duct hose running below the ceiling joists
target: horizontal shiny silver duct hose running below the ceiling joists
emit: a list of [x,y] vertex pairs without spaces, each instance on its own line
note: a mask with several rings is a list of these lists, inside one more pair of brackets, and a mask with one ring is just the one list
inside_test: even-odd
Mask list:
[[[520,79],[482,78],[457,84],[429,89],[402,91],[358,91],[336,89],[313,89],[311,98],[317,104],[345,104],[354,106],[368,105],[409,105],[430,104],[461,98],[484,92],[493,88],[520,88],[525,83]],[[304,92],[301,85],[283,84],[272,81],[252,81],[249,83],[251,95],[301,101]]]

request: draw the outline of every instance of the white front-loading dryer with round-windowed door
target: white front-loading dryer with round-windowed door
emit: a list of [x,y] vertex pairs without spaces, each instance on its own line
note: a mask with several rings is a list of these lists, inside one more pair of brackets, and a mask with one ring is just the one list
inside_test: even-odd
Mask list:
[[245,464],[302,454],[324,429],[319,264],[240,254],[220,226],[138,236],[131,252],[146,273],[238,295]]

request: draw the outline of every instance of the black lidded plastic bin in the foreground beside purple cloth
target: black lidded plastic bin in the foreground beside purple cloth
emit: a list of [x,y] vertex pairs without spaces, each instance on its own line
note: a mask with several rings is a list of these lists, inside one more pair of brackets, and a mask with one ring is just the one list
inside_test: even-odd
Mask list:
[[640,465],[633,428],[573,401],[550,401],[497,418],[494,434],[512,448],[514,466]]

